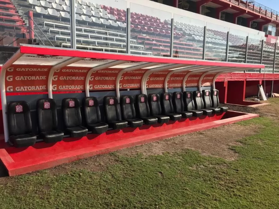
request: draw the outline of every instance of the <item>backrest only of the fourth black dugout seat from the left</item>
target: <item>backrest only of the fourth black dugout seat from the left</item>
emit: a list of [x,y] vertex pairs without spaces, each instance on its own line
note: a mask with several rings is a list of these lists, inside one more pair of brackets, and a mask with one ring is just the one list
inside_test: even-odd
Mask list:
[[86,124],[101,122],[101,112],[97,97],[85,97],[83,99],[83,108]]

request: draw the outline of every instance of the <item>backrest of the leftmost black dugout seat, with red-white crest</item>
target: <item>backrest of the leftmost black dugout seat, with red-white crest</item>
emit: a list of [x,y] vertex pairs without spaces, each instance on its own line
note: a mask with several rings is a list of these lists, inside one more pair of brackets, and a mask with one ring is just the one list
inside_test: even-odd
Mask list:
[[7,116],[10,136],[32,133],[30,107],[26,101],[10,102]]

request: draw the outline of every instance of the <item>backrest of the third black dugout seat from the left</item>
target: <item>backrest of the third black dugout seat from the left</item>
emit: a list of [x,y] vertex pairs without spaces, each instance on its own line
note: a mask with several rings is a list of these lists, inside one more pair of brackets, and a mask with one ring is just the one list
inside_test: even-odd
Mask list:
[[79,99],[62,99],[62,112],[66,128],[81,126],[81,109]]

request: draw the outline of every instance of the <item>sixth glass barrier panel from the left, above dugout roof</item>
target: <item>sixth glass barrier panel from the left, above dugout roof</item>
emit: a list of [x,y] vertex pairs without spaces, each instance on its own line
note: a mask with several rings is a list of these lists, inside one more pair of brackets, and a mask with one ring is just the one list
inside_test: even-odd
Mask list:
[[245,62],[248,32],[230,28],[228,62]]

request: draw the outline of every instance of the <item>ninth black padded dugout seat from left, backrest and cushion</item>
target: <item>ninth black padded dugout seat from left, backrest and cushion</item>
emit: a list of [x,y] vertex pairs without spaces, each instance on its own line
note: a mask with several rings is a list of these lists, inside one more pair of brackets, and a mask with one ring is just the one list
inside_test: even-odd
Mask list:
[[162,114],[169,116],[171,120],[177,121],[181,119],[182,115],[178,113],[174,113],[173,111],[173,103],[172,103],[170,93],[161,94],[161,107],[162,107]]

